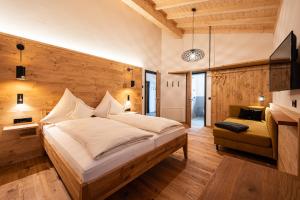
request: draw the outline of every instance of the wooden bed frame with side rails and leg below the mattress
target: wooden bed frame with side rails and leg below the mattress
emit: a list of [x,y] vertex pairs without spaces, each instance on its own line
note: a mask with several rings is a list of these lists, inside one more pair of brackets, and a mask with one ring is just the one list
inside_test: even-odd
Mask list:
[[187,134],[185,133],[100,177],[89,182],[82,182],[60,153],[55,151],[44,137],[42,141],[70,196],[76,200],[105,199],[180,148],[183,148],[184,158],[187,159],[188,156]]

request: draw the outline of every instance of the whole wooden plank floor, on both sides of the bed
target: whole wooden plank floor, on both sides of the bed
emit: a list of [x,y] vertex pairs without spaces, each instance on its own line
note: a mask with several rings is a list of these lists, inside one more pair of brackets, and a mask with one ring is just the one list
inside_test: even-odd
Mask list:
[[[228,149],[217,152],[209,128],[189,129],[189,159],[179,150],[108,199],[199,199],[224,155],[270,167],[268,160]],[[69,199],[48,158],[0,169],[0,199]]]

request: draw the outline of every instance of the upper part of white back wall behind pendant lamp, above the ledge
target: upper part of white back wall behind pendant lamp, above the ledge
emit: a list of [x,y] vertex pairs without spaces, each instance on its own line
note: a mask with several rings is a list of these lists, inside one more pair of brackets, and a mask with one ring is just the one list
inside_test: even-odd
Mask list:
[[[208,67],[208,35],[195,35],[195,48],[204,50],[205,57],[196,63],[181,59],[183,51],[191,48],[191,34],[182,39],[162,32],[162,70],[187,70]],[[272,53],[271,33],[212,34],[211,65],[219,66],[236,62],[266,59]]]

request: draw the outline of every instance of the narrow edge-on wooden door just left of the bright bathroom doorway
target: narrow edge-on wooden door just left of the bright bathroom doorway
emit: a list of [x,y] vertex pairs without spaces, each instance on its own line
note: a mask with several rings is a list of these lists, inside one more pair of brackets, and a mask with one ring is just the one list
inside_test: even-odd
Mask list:
[[192,72],[186,74],[186,124],[192,125]]

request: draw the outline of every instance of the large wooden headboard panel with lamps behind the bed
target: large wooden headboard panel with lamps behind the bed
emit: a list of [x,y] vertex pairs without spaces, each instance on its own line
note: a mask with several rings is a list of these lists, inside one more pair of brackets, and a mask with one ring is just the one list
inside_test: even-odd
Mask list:
[[[16,80],[16,65],[20,64],[17,43],[25,46],[25,81]],[[131,79],[127,68],[134,69],[133,89],[126,87]],[[18,117],[39,121],[58,102],[65,88],[92,107],[99,104],[106,90],[122,104],[129,94],[132,110],[142,111],[141,68],[0,34],[0,126]],[[24,94],[22,108],[16,107],[18,93]]]

